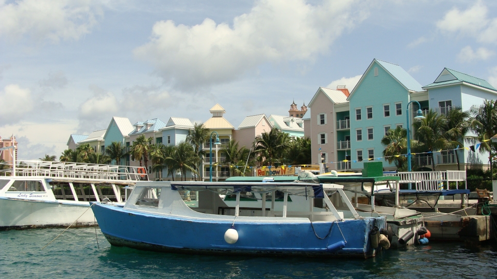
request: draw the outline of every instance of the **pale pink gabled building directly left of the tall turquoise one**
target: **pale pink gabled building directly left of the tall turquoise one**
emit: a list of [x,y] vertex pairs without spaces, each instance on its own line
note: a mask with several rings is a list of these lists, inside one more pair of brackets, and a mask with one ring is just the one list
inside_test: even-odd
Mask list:
[[[348,90],[346,91],[348,92]],[[311,134],[313,163],[350,159],[350,115],[347,95],[341,90],[320,87],[309,102],[304,117],[306,134]],[[309,119],[309,120],[306,120]],[[350,169],[350,162],[329,164],[330,169]]]

